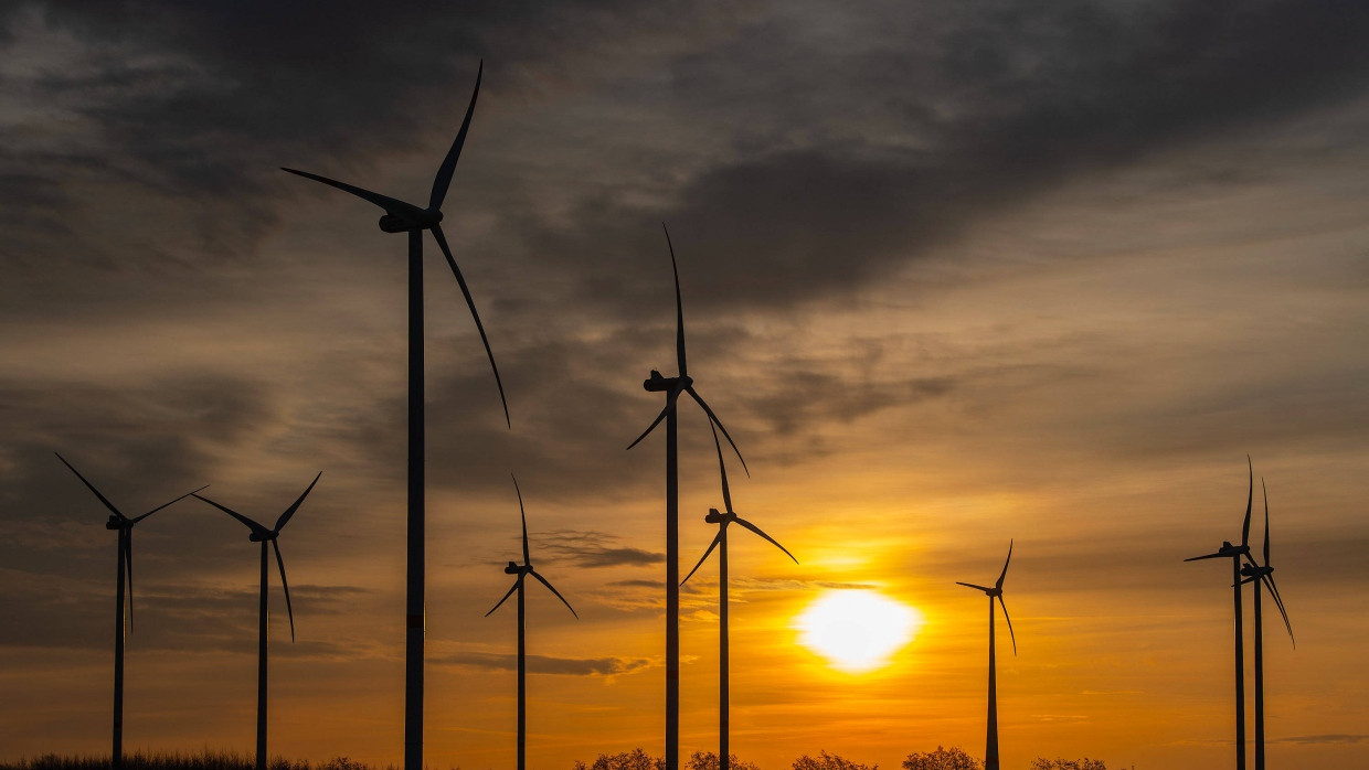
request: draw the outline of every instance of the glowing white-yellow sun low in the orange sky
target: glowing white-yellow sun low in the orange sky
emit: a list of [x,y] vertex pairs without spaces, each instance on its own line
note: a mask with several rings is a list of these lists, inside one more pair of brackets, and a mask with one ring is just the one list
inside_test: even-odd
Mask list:
[[794,622],[804,647],[853,674],[887,665],[921,625],[923,614],[914,607],[878,591],[850,588],[823,592]]

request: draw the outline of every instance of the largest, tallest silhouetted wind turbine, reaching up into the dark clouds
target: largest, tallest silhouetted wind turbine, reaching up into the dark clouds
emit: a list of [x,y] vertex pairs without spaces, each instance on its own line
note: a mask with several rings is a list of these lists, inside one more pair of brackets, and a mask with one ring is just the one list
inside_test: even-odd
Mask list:
[[423,629],[424,629],[424,505],[423,505],[423,470],[424,470],[424,443],[423,443],[423,231],[431,230],[433,238],[442,249],[446,264],[456,276],[456,283],[465,295],[465,305],[475,319],[475,328],[481,332],[481,342],[485,343],[485,354],[490,358],[490,369],[494,371],[494,384],[500,390],[500,401],[504,403],[504,421],[509,421],[508,401],[504,398],[504,383],[500,380],[500,369],[494,365],[494,353],[490,350],[490,341],[485,336],[485,326],[481,315],[475,312],[475,301],[471,298],[465,279],[461,278],[461,268],[456,267],[452,249],[442,235],[442,200],[452,185],[452,174],[456,171],[456,160],[461,155],[461,145],[465,144],[465,133],[471,127],[471,115],[475,114],[475,97],[481,93],[481,75],[485,72],[485,62],[475,74],[475,90],[471,93],[471,104],[465,108],[465,119],[456,133],[452,149],[446,152],[442,165],[433,179],[433,193],[428,196],[426,209],[396,198],[363,190],[335,179],[283,168],[290,174],[297,174],[315,182],[337,187],[342,191],[370,201],[382,209],[381,230],[385,233],[409,234],[409,483],[408,483],[408,580],[405,598],[405,646],[404,646],[404,769],[423,770]]

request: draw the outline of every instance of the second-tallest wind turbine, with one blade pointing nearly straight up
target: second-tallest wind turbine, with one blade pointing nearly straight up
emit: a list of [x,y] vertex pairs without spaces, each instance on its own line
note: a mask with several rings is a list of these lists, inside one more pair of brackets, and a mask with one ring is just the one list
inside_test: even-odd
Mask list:
[[709,421],[723,431],[727,443],[732,444],[737,458],[742,461],[742,470],[747,476],[746,458],[737,449],[737,442],[719,421],[717,416],[708,406],[702,397],[694,390],[694,379],[689,376],[689,367],[684,356],[684,306],[680,302],[680,274],[675,264],[675,246],[671,245],[671,233],[665,230],[665,246],[671,252],[671,271],[675,274],[675,360],[679,375],[664,377],[652,369],[650,379],[642,383],[648,393],[664,393],[665,408],[652,420],[652,424],[637,436],[637,440],[627,444],[632,449],[648,436],[656,425],[665,420],[665,769],[679,767],[679,734],[680,734],[680,584],[679,584],[679,451],[676,440],[676,410],[675,402],[682,393],[698,402],[708,414]]

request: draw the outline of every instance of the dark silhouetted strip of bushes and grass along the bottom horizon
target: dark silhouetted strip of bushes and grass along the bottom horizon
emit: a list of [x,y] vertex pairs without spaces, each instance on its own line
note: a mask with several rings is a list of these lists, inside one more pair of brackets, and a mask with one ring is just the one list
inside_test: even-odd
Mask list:
[[[126,754],[123,756],[123,770],[253,770],[255,759],[246,754],[211,752],[208,749],[197,754]],[[311,765],[304,760],[289,760],[283,756],[271,759],[268,770],[382,770],[376,766],[366,765],[334,756],[327,762]],[[754,762],[730,756],[731,770],[760,770]],[[960,747],[942,748],[935,751],[909,754],[902,762],[902,770],[983,770],[984,765],[971,756]],[[108,756],[63,756],[48,754],[36,759],[21,759],[15,763],[0,763],[0,770],[108,770]],[[793,770],[879,770],[879,765],[862,765],[836,754],[817,752],[817,756],[802,755],[791,765]],[[394,765],[383,770],[397,770]],[[453,767],[452,770],[460,770]],[[594,762],[586,765],[576,762],[574,770],[665,770],[665,762],[660,756],[652,756],[641,748],[624,751],[622,754],[601,754]],[[719,770],[717,755],[709,751],[695,751],[684,762],[683,770]],[[1108,770],[1101,759],[1047,759],[1038,756],[1025,770]]]

